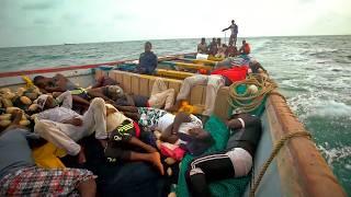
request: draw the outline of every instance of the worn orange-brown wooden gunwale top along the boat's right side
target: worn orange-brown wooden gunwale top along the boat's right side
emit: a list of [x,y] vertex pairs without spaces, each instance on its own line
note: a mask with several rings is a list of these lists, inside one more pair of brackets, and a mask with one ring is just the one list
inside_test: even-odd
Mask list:
[[[288,134],[306,131],[280,95],[270,95],[267,111],[274,144]],[[346,196],[315,143],[308,138],[288,140],[275,160],[284,196]]]

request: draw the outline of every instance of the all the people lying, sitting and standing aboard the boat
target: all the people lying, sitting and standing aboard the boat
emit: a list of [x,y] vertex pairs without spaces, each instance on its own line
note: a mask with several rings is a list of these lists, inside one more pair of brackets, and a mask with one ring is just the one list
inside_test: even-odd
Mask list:
[[[231,31],[229,46],[222,44],[220,38],[213,38],[207,46],[202,38],[197,53],[215,57],[248,55],[250,47],[246,40],[239,50],[236,48],[238,26],[235,22],[223,31],[226,30]],[[32,128],[21,126],[22,109],[11,113],[11,125],[0,127],[0,196],[95,196],[97,175],[104,177],[100,172],[43,169],[35,164],[31,154],[31,149],[49,142],[83,166],[89,160],[86,157],[89,147],[81,141],[91,136],[101,148],[105,163],[141,161],[154,166],[160,175],[166,174],[162,157],[178,161],[184,153],[199,157],[191,162],[186,173],[193,196],[210,196],[210,182],[248,175],[262,129],[256,116],[234,114],[226,125],[237,135],[229,138],[227,149],[202,155],[215,142],[204,125],[214,111],[217,91],[244,80],[249,70],[264,70],[256,60],[249,60],[247,67],[231,66],[233,60],[224,60],[208,76],[185,78],[177,96],[160,78],[156,79],[147,97],[126,93],[109,77],[83,89],[63,74],[36,76],[33,83],[41,95],[33,101],[37,109],[30,114]],[[154,74],[156,67],[157,56],[151,51],[151,43],[147,42],[135,72]],[[205,109],[201,117],[178,112],[196,84],[206,85]],[[178,113],[174,115],[174,112]],[[168,151],[162,151],[165,149]]]

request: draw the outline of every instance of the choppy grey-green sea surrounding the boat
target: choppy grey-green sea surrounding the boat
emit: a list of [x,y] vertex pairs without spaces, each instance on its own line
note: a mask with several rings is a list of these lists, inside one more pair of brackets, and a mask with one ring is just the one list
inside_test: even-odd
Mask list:
[[[351,36],[247,40],[351,195]],[[158,56],[192,53],[197,42],[151,40]],[[136,40],[0,48],[0,72],[134,59],[143,51],[143,44]]]

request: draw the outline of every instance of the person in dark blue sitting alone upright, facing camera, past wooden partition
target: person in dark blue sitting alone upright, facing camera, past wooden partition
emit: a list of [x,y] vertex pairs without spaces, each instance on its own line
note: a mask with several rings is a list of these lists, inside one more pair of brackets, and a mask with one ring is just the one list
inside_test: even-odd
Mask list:
[[151,51],[150,42],[145,43],[145,53],[140,54],[139,65],[136,68],[138,73],[154,74],[157,67],[157,56]]

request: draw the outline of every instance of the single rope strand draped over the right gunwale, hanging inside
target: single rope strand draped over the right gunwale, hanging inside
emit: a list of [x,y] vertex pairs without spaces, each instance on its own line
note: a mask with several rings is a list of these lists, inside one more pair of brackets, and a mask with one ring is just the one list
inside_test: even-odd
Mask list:
[[297,131],[297,132],[292,132],[292,134],[288,134],[286,136],[284,136],[282,139],[280,139],[272,152],[271,152],[271,155],[270,158],[264,162],[259,175],[258,175],[258,178],[257,181],[254,182],[254,174],[252,174],[252,181],[253,181],[253,186],[251,187],[251,190],[250,190],[250,197],[254,197],[254,193],[258,188],[258,186],[260,185],[260,182],[267,171],[267,169],[270,166],[270,164],[272,163],[273,159],[278,155],[279,151],[281,150],[281,148],[285,144],[285,142],[292,138],[295,138],[295,137],[307,137],[307,138],[312,138],[312,135],[309,132],[306,132],[306,131]]

